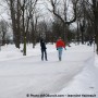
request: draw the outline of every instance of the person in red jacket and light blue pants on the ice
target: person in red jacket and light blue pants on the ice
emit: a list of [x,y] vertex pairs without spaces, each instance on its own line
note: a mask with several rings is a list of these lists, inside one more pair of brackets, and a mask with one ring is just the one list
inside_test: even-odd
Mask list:
[[65,48],[65,42],[59,37],[59,39],[56,42],[57,50],[59,52],[59,61],[62,60],[62,50]]

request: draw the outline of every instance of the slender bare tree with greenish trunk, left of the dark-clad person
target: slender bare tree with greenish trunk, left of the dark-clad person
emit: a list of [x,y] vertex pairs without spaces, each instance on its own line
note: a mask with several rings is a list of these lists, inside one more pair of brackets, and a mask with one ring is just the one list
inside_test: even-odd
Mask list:
[[24,35],[24,56],[26,56],[26,36],[29,30],[29,21],[34,15],[34,10],[38,0],[24,0],[22,5],[23,13],[23,35]]

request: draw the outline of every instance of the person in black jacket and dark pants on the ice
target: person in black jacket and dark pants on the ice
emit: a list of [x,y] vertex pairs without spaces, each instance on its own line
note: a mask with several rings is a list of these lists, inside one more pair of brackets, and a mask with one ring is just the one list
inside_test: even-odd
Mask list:
[[41,47],[41,61],[44,61],[44,57],[47,61],[47,51],[46,51],[46,42],[44,39],[40,40],[40,47]]

